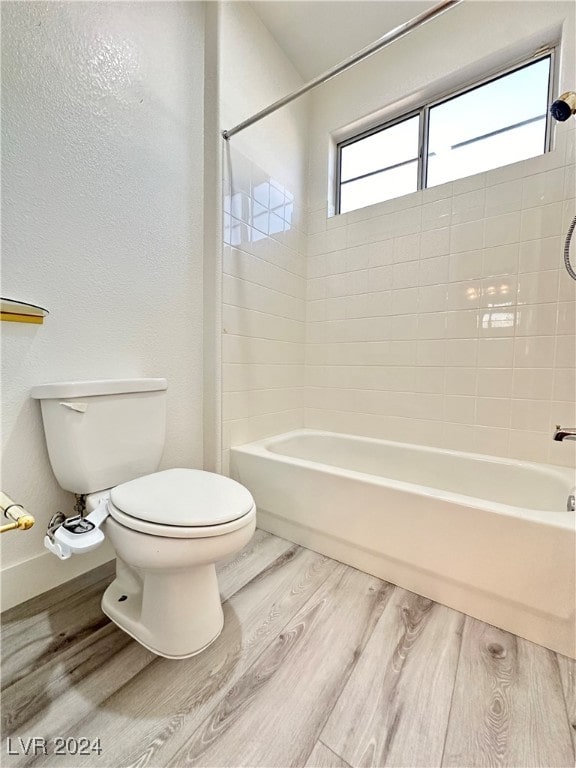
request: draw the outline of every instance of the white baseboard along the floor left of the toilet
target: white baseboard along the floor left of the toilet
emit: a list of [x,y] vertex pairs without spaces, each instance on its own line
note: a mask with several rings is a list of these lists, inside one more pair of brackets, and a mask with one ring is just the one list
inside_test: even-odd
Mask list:
[[50,552],[43,552],[30,560],[4,568],[1,609],[6,611],[19,603],[60,586],[86,571],[113,560],[116,557],[109,542],[85,555],[72,555],[69,560],[59,560]]

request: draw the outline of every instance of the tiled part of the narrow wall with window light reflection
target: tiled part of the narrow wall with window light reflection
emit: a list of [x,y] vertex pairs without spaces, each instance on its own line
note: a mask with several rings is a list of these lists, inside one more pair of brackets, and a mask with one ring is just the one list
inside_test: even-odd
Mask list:
[[228,448],[303,426],[306,258],[295,193],[230,150],[223,253],[223,470]]

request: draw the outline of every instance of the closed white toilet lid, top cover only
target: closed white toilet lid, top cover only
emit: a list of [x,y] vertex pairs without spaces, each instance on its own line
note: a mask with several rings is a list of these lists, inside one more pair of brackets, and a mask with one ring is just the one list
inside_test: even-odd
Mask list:
[[167,469],[112,489],[116,509],[159,525],[210,526],[229,523],[254,508],[243,485],[198,469]]

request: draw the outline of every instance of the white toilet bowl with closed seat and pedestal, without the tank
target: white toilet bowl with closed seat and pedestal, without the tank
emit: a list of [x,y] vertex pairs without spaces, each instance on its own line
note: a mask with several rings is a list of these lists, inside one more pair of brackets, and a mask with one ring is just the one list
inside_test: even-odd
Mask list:
[[215,564],[254,533],[251,495],[227,477],[170,469],[113,488],[107,507],[117,560],[103,612],[160,656],[200,653],[224,623]]

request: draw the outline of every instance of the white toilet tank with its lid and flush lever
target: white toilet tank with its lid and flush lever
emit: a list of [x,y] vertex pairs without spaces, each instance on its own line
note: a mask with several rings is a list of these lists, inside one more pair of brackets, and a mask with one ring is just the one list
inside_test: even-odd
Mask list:
[[42,384],[52,471],[62,488],[94,493],[155,472],[166,431],[166,379]]

